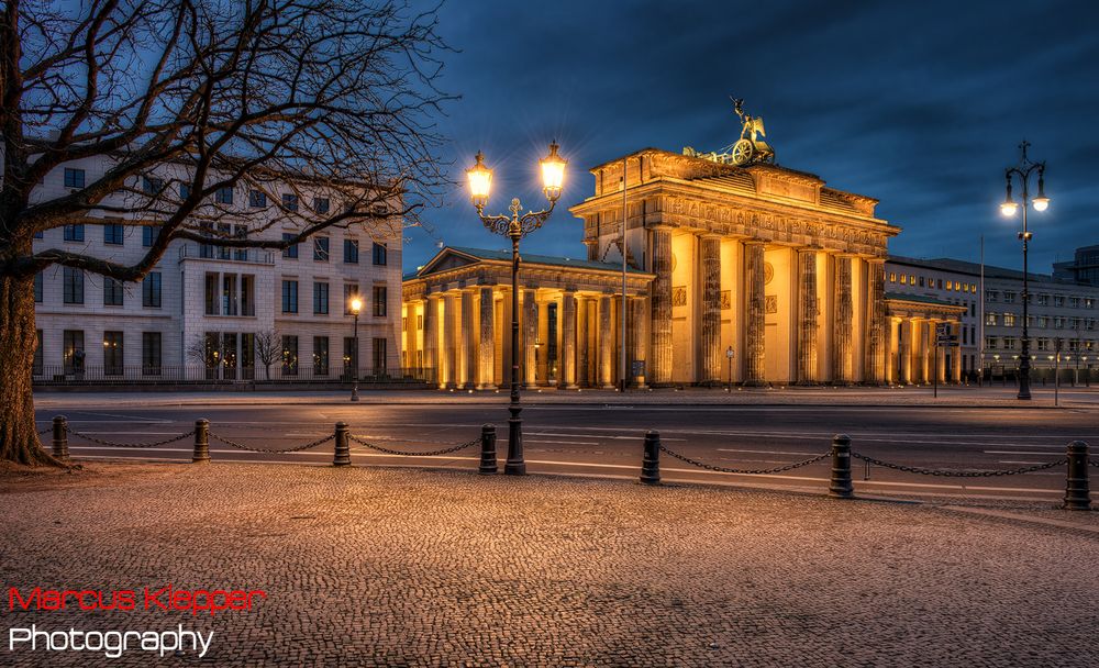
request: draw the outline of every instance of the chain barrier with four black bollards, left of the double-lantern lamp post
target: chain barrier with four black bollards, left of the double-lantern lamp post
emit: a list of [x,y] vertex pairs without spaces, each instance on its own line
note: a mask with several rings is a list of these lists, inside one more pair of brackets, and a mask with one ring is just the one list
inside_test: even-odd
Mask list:
[[214,439],[219,443],[223,443],[230,447],[234,447],[241,450],[246,450],[251,453],[264,453],[264,454],[286,454],[286,453],[299,453],[302,450],[308,450],[314,448],[319,445],[323,445],[329,441],[335,441],[335,446],[333,448],[332,465],[333,466],[351,466],[351,442],[368,447],[370,449],[385,453],[387,455],[400,455],[404,457],[435,457],[440,455],[447,455],[451,453],[456,453],[458,450],[465,449],[467,447],[481,444],[481,456],[480,464],[478,466],[478,471],[481,474],[495,474],[497,472],[496,464],[496,427],[486,424],[481,427],[481,435],[479,438],[474,441],[468,441],[466,443],[459,443],[458,445],[445,447],[436,450],[429,452],[404,452],[390,449],[381,447],[379,445],[369,443],[368,441],[352,436],[348,425],[344,422],[337,422],[335,424],[335,430],[331,434],[325,434],[324,436],[317,438],[315,441],[310,441],[309,443],[303,443],[301,445],[296,445],[286,448],[271,448],[271,447],[259,447],[255,445],[249,445],[246,443],[241,443],[240,441],[234,441],[226,436],[213,433],[210,431],[210,421],[207,419],[200,419],[195,421],[195,428],[185,433],[171,436],[170,438],[164,438],[162,441],[155,441],[152,443],[121,443],[116,441],[108,441],[104,438],[99,438],[92,436],[91,434],[86,434],[77,432],[69,428],[68,421],[64,415],[58,415],[53,419],[52,425],[38,432],[44,434],[47,431],[53,431],[53,455],[56,459],[62,461],[67,461],[69,459],[68,454],[68,436],[73,435],[91,443],[103,445],[107,447],[123,447],[123,448],[154,448],[162,445],[168,445],[170,443],[176,443],[188,438],[190,436],[195,437],[195,449],[191,456],[192,464],[209,464],[210,463],[210,439]]

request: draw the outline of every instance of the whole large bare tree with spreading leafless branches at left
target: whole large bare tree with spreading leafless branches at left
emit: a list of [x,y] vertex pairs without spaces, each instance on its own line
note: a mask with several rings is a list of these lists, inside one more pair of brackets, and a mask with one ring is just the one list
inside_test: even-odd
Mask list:
[[[52,463],[31,394],[36,272],[136,281],[176,240],[278,249],[332,226],[399,234],[446,183],[434,11],[399,0],[7,0],[0,11],[0,459]],[[103,159],[102,175],[32,196],[84,158]],[[286,240],[214,224],[233,214],[219,190],[275,183],[332,208],[267,198],[257,220],[291,222]],[[133,265],[33,247],[43,231],[104,218],[159,234]]]

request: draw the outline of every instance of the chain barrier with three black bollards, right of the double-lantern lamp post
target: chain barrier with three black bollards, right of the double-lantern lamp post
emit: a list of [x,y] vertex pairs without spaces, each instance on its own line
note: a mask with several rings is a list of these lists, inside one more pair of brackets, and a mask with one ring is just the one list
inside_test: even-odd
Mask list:
[[737,474],[742,476],[762,476],[788,471],[803,466],[815,464],[825,457],[832,458],[832,470],[829,477],[829,496],[836,499],[854,499],[855,489],[851,478],[851,460],[859,459],[867,464],[881,466],[908,474],[919,474],[922,476],[940,476],[945,478],[989,478],[998,476],[1019,476],[1032,474],[1034,471],[1047,470],[1057,466],[1068,465],[1065,480],[1065,500],[1062,508],[1065,510],[1090,510],[1090,480],[1088,467],[1099,467],[1099,461],[1089,460],[1088,444],[1083,441],[1074,441],[1068,444],[1065,457],[1061,457],[1045,464],[1025,466],[1010,469],[991,470],[962,470],[962,469],[934,469],[919,466],[906,466],[876,459],[861,453],[852,452],[851,437],[845,434],[836,434],[832,438],[832,449],[823,455],[810,457],[802,461],[795,461],[785,466],[767,469],[739,469],[723,466],[706,464],[686,455],[668,449],[660,444],[660,434],[650,431],[645,434],[644,453],[641,464],[641,482],[645,485],[659,485],[660,482],[660,453],[666,453],[680,461],[690,464],[701,469],[722,474]]

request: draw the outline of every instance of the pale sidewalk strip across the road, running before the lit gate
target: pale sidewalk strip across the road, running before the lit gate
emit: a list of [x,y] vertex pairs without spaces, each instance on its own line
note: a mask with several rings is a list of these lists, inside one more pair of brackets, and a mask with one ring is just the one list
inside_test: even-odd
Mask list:
[[[681,405],[847,405],[847,407],[950,407],[1053,409],[1053,388],[1035,387],[1029,402],[1015,399],[1012,387],[944,387],[939,398],[931,388],[689,388],[652,391],[630,390],[624,394],[607,390],[524,390],[523,403],[539,404],[681,404]],[[360,391],[363,404],[497,404],[507,403],[507,390],[376,390]],[[1099,387],[1063,388],[1063,409],[1099,409]],[[244,391],[244,392],[48,392],[38,391],[34,404],[40,410],[65,410],[104,407],[180,407],[180,405],[341,405],[348,403],[347,392],[340,391]]]

